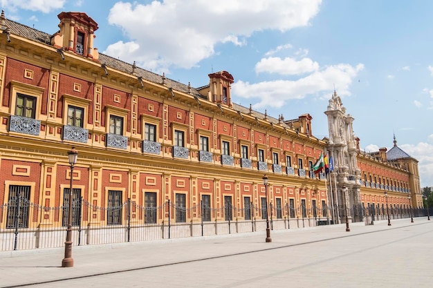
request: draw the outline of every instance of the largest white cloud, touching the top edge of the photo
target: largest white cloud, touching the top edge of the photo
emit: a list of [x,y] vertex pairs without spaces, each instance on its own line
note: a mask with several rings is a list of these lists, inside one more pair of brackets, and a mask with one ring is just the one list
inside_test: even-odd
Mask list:
[[[245,43],[253,32],[308,25],[322,0],[163,0],[149,4],[118,2],[109,13],[109,23],[122,28],[129,52],[122,43],[104,53],[145,68],[191,68],[214,55],[214,46],[224,41]],[[156,65],[156,66],[155,66]]]

